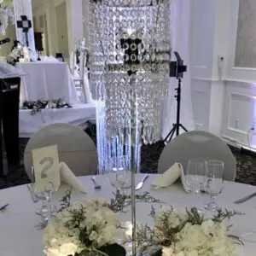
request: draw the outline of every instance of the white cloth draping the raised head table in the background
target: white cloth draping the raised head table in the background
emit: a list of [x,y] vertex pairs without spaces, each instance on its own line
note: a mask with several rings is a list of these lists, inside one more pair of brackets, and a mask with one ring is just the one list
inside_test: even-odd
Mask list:
[[27,75],[21,79],[20,102],[61,98],[71,104],[79,103],[67,63],[17,63]]

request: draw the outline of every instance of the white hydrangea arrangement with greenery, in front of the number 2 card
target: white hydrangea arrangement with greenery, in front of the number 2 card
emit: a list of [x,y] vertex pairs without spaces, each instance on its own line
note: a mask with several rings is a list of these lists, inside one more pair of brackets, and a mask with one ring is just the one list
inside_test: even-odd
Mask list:
[[45,228],[44,253],[47,256],[115,255],[106,252],[111,252],[113,245],[120,249],[115,244],[118,227],[119,221],[106,201],[75,203],[59,212]]

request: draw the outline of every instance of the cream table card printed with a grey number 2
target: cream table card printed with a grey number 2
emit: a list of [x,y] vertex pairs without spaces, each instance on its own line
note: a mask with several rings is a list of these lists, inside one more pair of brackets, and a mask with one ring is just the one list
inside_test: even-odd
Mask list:
[[37,192],[51,187],[57,189],[61,184],[59,155],[57,145],[32,150]]

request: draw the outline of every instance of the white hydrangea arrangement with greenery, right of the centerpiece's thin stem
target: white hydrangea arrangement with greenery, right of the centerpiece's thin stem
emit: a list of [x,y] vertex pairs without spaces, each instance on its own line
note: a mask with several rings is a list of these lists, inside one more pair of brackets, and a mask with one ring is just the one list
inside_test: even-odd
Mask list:
[[235,256],[239,240],[228,236],[224,219],[237,214],[241,213],[219,210],[213,218],[204,218],[195,208],[186,212],[153,209],[154,228],[138,227],[138,250],[157,256]]

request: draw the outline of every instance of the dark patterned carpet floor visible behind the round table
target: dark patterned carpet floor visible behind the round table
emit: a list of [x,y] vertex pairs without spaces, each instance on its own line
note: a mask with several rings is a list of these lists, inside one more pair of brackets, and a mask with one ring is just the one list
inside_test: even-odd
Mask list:
[[[94,141],[96,141],[94,134],[91,133],[91,130],[87,131],[87,133],[90,135],[90,137],[92,137]],[[26,138],[20,139],[21,162],[27,141],[28,139]],[[143,146],[141,157],[141,172],[157,172],[157,164],[163,148],[163,143]],[[256,185],[256,154],[251,154],[250,152],[237,148],[231,148],[231,150],[236,156],[237,161],[236,182]],[[5,189],[29,182],[30,181],[26,176],[24,166],[21,165],[17,173],[10,174],[8,177],[5,177],[4,180],[0,179],[0,189]]]

